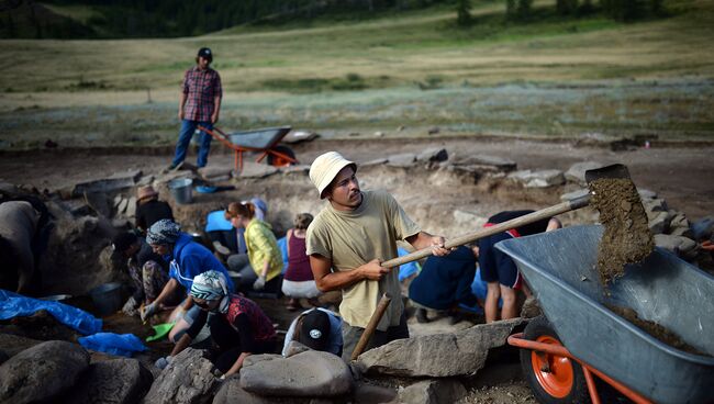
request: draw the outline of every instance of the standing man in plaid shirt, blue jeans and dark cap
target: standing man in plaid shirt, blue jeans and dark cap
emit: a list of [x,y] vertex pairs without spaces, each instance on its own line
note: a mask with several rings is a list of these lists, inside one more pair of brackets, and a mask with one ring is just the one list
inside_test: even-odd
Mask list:
[[[183,164],[186,152],[198,125],[212,130],[213,124],[219,121],[223,90],[221,89],[221,76],[209,66],[211,61],[213,61],[211,49],[200,48],[196,57],[196,66],[186,70],[183,76],[178,114],[181,120],[181,131],[176,144],[176,155],[169,169],[180,168]],[[211,135],[201,132],[198,167],[205,166],[210,149]]]

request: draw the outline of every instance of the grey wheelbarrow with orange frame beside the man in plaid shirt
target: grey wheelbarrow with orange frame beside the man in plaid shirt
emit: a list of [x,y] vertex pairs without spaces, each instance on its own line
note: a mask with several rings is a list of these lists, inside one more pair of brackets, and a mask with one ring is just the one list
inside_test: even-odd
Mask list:
[[294,152],[290,147],[279,144],[290,133],[290,126],[265,127],[228,134],[219,127],[209,130],[199,126],[199,130],[213,136],[222,145],[233,150],[236,171],[243,170],[244,153],[258,154],[256,162],[260,162],[267,157],[266,161],[270,166],[285,167],[298,164]]

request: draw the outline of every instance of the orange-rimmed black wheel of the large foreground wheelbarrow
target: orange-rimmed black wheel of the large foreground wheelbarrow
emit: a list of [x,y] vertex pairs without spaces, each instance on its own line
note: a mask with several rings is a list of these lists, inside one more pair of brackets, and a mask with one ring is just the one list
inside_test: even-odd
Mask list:
[[[544,316],[533,318],[525,328],[525,339],[562,346]],[[589,403],[590,393],[582,368],[569,358],[521,349],[521,367],[539,403]]]

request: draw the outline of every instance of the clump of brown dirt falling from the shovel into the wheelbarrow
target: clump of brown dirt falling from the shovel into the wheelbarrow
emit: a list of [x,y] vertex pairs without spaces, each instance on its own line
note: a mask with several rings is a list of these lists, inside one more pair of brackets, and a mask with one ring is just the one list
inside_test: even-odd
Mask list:
[[629,179],[603,178],[590,183],[591,204],[600,212],[605,232],[598,251],[600,282],[625,273],[625,263],[639,262],[655,248],[647,214]]

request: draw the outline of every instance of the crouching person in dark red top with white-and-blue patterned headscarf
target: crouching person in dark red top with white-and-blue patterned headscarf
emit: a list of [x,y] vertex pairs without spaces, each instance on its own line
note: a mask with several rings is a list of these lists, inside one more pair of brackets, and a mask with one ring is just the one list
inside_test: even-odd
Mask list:
[[201,312],[171,355],[156,361],[158,368],[164,369],[174,356],[186,349],[207,322],[217,346],[213,363],[225,377],[238,372],[248,356],[275,351],[272,322],[255,302],[230,293],[223,273],[210,270],[197,276],[189,295]]

